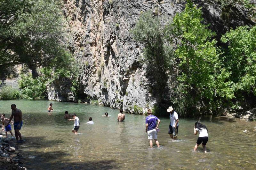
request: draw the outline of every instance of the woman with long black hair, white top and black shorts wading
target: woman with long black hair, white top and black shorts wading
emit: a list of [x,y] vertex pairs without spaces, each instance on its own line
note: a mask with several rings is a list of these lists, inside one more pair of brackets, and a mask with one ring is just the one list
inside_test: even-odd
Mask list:
[[199,137],[196,141],[194,151],[196,151],[198,146],[203,142],[202,145],[203,145],[204,153],[206,153],[206,143],[208,142],[208,133],[207,133],[207,131],[208,131],[208,129],[206,128],[205,125],[201,124],[198,121],[195,123],[194,134],[196,135],[197,132],[199,132]]

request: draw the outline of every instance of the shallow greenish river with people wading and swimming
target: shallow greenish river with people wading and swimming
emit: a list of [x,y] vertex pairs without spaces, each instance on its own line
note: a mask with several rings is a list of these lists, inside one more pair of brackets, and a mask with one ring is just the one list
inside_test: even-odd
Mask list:
[[[0,100],[0,113],[11,115],[15,103],[23,113],[17,144],[21,161],[28,169],[255,169],[256,122],[237,118],[201,116],[180,118],[177,141],[168,133],[170,119],[159,117],[160,148],[150,149],[142,115],[126,114],[117,122],[117,109],[47,100]],[[64,112],[75,112],[80,119],[79,135],[71,132],[74,121],[64,119]],[[102,117],[108,112],[109,117]],[[94,125],[85,124],[92,117]],[[208,128],[207,153],[202,145],[193,152],[198,135],[196,121]],[[13,126],[12,126],[13,129]],[[244,130],[247,132],[243,132]],[[14,133],[14,130],[13,130]],[[8,133],[9,134],[9,133]]]

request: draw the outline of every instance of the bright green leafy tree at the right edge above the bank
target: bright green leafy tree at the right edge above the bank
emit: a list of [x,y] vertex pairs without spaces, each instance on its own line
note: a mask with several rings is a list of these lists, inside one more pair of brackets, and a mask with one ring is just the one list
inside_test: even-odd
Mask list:
[[256,26],[240,26],[222,36],[229,44],[225,65],[231,72],[236,92],[253,92],[256,96]]

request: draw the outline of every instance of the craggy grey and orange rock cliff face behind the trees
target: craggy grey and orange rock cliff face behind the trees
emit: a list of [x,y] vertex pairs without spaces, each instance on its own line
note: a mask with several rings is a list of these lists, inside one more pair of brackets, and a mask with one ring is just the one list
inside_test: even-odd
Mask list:
[[[223,9],[219,4],[195,3],[202,7],[205,23],[211,24],[217,39],[229,27],[252,24],[243,17],[223,19]],[[81,96],[98,100],[105,106],[122,107],[130,113],[138,110],[144,113],[148,107],[153,107],[156,98],[148,86],[146,66],[139,62],[143,47],[132,40],[129,30],[143,11],[158,11],[160,15],[173,17],[184,9],[186,2],[64,0],[64,4],[72,35],[70,51],[77,64],[83,67],[79,78]],[[73,94],[64,90],[60,82],[48,86],[48,96],[51,100],[74,100]]]

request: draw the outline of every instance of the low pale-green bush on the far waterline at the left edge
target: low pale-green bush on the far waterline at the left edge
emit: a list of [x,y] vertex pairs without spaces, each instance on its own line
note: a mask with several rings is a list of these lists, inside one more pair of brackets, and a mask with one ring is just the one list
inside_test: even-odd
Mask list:
[[0,100],[22,99],[22,95],[18,89],[12,86],[4,85],[0,88]]

